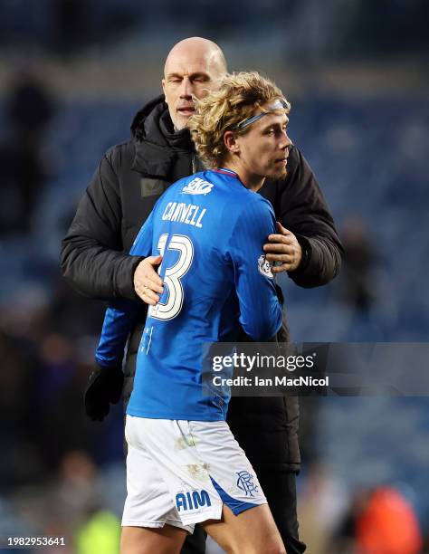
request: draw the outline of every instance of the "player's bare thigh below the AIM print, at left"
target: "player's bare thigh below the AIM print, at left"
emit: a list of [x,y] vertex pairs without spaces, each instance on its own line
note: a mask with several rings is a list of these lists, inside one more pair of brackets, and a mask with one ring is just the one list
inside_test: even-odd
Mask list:
[[160,529],[123,527],[120,554],[179,554],[186,530],[165,525]]

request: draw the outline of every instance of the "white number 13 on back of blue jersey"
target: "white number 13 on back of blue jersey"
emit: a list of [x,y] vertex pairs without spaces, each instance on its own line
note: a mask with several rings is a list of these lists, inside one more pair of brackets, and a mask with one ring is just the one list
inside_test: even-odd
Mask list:
[[167,267],[164,275],[164,284],[167,285],[168,289],[167,301],[165,303],[159,301],[157,305],[149,306],[148,317],[156,320],[172,320],[182,310],[184,291],[180,280],[189,270],[194,260],[194,244],[188,236],[172,234],[169,240],[168,238],[168,234],[161,234],[157,243],[157,249],[163,257],[158,272],[164,263],[166,245],[167,251],[176,251],[179,256],[174,265]]

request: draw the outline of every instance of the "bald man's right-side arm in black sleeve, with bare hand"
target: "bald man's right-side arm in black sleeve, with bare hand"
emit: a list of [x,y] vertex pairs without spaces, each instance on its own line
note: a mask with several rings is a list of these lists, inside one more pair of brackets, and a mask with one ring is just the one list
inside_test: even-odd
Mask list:
[[286,228],[272,234],[264,248],[267,259],[282,263],[274,272],[288,271],[296,284],[306,288],[334,279],[343,247],[316,177],[296,147],[291,148],[288,177],[279,186],[274,210]]

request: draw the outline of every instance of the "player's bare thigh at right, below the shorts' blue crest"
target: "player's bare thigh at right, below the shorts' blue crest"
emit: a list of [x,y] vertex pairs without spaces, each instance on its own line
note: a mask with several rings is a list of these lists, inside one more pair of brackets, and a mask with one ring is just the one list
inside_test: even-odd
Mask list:
[[226,552],[286,552],[268,504],[234,515],[224,506],[222,521],[205,521],[205,531]]

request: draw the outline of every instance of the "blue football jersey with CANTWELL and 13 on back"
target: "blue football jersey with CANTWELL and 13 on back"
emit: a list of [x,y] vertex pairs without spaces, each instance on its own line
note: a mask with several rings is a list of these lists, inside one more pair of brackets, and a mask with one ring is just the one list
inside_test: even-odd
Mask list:
[[[204,352],[207,343],[237,339],[239,323],[253,340],[280,329],[281,305],[262,250],[273,233],[272,205],[228,169],[180,179],[159,198],[130,252],[162,254],[164,293],[148,309],[127,414],[224,419],[228,392],[203,390]],[[138,302],[110,304],[100,365],[119,364],[137,317]]]

